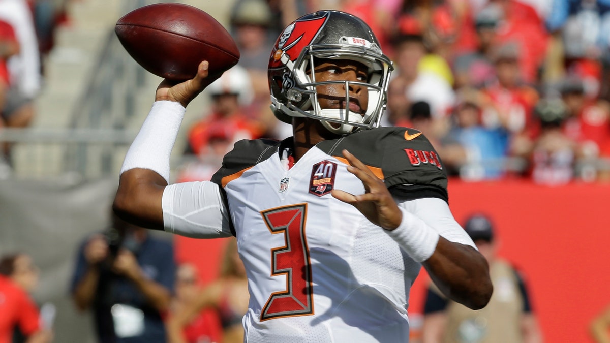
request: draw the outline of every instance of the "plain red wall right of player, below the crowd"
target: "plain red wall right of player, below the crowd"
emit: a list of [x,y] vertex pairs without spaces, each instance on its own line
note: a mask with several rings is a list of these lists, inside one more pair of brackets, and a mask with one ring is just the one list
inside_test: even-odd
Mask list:
[[[449,202],[458,222],[472,212],[493,219],[499,255],[525,273],[545,342],[593,342],[589,323],[610,305],[610,184],[451,179]],[[422,274],[412,313],[422,311]]]

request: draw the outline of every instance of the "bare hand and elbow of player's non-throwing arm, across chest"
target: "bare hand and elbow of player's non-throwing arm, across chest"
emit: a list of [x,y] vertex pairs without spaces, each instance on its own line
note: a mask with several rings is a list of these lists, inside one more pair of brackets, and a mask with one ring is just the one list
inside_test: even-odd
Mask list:
[[[403,214],[387,187],[353,154],[343,150],[343,156],[350,162],[347,170],[364,184],[365,193],[353,195],[337,189],[332,191],[332,196],[353,205],[375,225],[390,231],[397,228]],[[493,286],[489,265],[472,247],[440,237],[423,267],[445,296],[468,308],[484,308],[491,298]]]

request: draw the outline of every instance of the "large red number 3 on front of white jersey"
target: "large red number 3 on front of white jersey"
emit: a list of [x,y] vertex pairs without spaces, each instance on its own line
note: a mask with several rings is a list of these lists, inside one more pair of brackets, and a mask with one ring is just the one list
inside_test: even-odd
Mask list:
[[260,313],[260,321],[314,314],[311,262],[305,237],[307,204],[261,214],[272,234],[284,234],[284,247],[271,249],[271,276],[285,275],[287,289],[271,294]]

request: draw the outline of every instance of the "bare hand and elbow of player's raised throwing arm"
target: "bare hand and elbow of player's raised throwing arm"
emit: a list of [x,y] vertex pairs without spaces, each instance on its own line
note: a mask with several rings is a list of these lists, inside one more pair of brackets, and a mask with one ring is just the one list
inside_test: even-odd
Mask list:
[[[173,84],[169,80],[157,87],[155,101],[174,101],[186,107],[214,78],[207,79],[209,63],[199,64],[195,78]],[[113,211],[123,220],[143,228],[163,229],[161,200],[167,181],[158,173],[148,169],[134,168],[121,174]]]

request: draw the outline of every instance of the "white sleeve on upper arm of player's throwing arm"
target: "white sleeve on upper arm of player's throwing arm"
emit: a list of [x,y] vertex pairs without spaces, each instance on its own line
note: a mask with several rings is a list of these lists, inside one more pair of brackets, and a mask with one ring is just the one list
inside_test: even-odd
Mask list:
[[163,226],[193,238],[232,236],[220,187],[211,181],[171,184],[163,190]]

